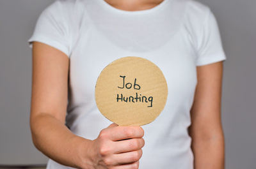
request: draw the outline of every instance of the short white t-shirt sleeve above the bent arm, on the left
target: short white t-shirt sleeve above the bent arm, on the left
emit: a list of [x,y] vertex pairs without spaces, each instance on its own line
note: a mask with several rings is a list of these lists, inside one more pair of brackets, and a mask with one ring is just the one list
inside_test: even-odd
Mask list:
[[55,1],[45,8],[38,17],[34,32],[29,38],[29,47],[32,48],[33,41],[39,41],[57,48],[70,55],[70,31],[65,19],[65,11],[61,8],[61,1]]

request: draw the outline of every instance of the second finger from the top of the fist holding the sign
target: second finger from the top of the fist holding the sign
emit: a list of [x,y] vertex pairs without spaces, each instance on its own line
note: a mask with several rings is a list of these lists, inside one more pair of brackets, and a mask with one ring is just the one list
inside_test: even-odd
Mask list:
[[113,154],[119,154],[122,152],[138,151],[145,145],[145,140],[143,138],[132,138],[129,140],[113,142],[113,144],[115,144]]

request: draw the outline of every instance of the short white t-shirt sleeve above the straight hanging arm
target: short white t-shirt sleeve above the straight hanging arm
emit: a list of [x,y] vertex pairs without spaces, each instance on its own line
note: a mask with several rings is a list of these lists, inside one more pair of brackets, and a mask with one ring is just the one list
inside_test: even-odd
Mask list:
[[227,59],[221,43],[218,23],[210,9],[207,10],[207,18],[198,36],[198,50],[196,66],[203,66]]

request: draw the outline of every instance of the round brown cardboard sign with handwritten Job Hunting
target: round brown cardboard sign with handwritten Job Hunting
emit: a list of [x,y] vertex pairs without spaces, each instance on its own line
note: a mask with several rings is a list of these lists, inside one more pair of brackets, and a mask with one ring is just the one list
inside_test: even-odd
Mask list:
[[162,71],[142,57],[122,57],[100,73],[95,101],[102,115],[119,126],[142,126],[162,112],[168,87]]

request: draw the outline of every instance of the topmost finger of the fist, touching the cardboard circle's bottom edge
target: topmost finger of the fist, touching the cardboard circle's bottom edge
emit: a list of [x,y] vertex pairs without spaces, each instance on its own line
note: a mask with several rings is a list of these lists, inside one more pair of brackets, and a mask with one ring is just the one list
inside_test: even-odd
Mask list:
[[109,139],[113,141],[144,136],[144,130],[140,126],[114,126],[113,124],[110,128],[106,128],[106,130],[109,133]]

